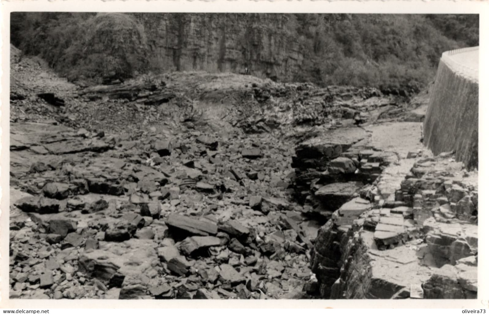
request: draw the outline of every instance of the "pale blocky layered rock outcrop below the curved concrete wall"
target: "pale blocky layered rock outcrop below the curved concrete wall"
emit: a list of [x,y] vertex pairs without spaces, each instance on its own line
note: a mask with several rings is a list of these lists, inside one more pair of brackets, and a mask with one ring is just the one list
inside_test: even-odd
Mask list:
[[[317,201],[333,209],[311,250],[321,297],[476,297],[477,175],[451,158],[413,159],[400,189],[388,197],[377,187],[384,180],[380,174],[349,197],[338,189]],[[385,159],[380,164],[386,173],[400,163],[389,166]],[[306,202],[316,198],[317,192],[309,192]]]

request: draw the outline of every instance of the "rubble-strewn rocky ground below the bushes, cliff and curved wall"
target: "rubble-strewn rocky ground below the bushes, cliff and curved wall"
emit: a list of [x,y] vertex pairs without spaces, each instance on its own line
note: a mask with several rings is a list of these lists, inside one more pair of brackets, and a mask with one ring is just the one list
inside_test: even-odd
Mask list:
[[477,172],[427,91],[169,73],[79,87],[12,48],[11,298],[474,298]]

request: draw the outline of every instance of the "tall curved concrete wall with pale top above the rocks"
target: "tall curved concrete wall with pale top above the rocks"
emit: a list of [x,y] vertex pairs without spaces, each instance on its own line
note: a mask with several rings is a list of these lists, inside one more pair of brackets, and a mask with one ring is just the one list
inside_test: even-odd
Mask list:
[[467,168],[478,166],[478,53],[478,47],[443,53],[423,127],[435,155],[455,151]]

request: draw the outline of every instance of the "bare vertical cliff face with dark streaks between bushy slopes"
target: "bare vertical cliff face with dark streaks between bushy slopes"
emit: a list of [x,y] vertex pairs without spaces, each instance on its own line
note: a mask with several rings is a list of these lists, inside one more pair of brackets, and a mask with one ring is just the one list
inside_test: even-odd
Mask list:
[[134,14],[144,25],[150,67],[249,73],[290,81],[303,54],[281,14]]

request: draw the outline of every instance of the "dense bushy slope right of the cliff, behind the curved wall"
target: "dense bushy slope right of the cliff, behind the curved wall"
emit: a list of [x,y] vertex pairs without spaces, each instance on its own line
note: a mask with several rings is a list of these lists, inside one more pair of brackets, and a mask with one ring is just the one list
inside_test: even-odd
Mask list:
[[443,51],[478,45],[478,15],[291,15],[306,53],[297,80],[319,85],[426,84]]

